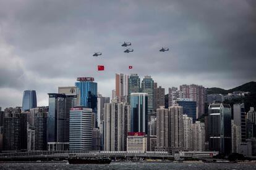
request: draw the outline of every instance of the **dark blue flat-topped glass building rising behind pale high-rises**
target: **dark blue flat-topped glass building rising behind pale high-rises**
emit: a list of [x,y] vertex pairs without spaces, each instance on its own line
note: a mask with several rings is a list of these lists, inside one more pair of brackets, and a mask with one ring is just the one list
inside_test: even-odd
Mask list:
[[193,119],[193,123],[197,120],[197,102],[195,101],[177,101],[179,106],[183,107],[183,114]]

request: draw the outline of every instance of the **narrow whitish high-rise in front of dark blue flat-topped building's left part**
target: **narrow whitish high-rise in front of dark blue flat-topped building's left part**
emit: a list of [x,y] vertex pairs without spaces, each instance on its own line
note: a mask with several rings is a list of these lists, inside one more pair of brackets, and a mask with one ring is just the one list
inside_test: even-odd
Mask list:
[[193,150],[193,119],[183,115],[183,148],[184,150]]

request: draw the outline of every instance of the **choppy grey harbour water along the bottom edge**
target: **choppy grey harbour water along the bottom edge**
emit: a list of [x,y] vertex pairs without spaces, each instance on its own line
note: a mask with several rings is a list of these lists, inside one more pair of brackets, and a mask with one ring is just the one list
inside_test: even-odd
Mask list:
[[111,164],[68,164],[68,163],[1,163],[0,169],[256,169],[255,163],[111,163]]

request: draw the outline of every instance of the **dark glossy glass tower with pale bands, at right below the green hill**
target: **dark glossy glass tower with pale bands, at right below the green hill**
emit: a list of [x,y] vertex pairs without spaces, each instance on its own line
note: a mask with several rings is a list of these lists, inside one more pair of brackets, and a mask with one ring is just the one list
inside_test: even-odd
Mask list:
[[209,149],[228,155],[231,152],[231,107],[213,103],[208,110]]

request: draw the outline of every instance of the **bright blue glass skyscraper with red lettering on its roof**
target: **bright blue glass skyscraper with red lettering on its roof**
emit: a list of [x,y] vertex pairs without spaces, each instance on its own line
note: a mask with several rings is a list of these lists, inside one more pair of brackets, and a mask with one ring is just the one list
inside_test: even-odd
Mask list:
[[[92,108],[93,113],[96,113],[97,101],[95,101],[95,97],[97,97],[97,83],[93,82],[94,78],[77,78],[75,82],[75,86],[80,89],[80,106]],[[90,100],[88,101],[90,97]],[[97,100],[97,99],[96,99]]]

